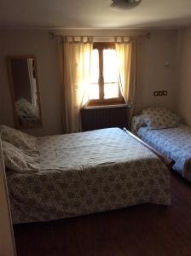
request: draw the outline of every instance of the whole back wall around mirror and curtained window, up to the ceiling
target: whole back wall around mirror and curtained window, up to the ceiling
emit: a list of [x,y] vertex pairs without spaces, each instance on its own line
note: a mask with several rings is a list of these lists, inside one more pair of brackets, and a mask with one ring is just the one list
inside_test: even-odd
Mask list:
[[[67,35],[117,36],[140,33],[125,30],[57,31]],[[141,31],[141,33],[145,33]],[[40,87],[43,128],[28,130],[38,136],[59,134],[61,119],[61,76],[59,50],[48,31],[4,30],[0,32],[0,124],[14,126],[9,92],[6,55],[36,55]],[[170,63],[165,67],[165,62]],[[142,107],[151,105],[176,108],[177,31],[152,31],[145,42],[142,67]],[[168,90],[168,96],[153,96],[153,90]]]

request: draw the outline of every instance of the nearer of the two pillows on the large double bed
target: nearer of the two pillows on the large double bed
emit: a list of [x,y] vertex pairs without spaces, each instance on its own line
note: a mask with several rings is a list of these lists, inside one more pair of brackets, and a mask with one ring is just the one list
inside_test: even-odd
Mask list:
[[20,148],[2,141],[3,159],[5,167],[15,172],[38,172],[38,154],[26,154]]

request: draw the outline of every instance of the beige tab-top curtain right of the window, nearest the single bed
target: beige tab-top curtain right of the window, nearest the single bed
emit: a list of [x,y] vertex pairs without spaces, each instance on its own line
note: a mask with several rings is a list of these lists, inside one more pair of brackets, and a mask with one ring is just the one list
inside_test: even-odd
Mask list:
[[140,110],[142,95],[142,38],[119,38],[115,41],[119,84],[124,101],[130,105],[131,118]]

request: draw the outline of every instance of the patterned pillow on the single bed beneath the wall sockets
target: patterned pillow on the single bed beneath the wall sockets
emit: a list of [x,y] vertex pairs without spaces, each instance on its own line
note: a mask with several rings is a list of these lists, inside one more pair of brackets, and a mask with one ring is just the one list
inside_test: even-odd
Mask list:
[[159,107],[143,109],[142,121],[148,126],[148,129],[177,127],[182,123],[181,118],[176,113]]

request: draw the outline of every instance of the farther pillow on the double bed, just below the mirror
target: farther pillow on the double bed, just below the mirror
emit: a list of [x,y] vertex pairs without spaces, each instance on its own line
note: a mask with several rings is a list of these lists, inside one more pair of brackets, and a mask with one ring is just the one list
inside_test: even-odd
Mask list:
[[24,132],[10,128],[7,125],[0,126],[0,136],[3,141],[13,144],[23,150],[37,150],[37,138]]

